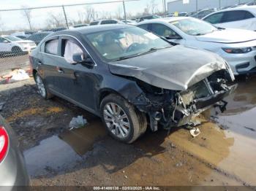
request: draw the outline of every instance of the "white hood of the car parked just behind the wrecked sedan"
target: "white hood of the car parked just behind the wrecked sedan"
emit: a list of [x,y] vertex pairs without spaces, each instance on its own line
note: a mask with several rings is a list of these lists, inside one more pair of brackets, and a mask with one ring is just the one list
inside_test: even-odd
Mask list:
[[256,33],[255,31],[226,28],[225,30],[214,31],[195,38],[203,42],[238,43],[255,40]]

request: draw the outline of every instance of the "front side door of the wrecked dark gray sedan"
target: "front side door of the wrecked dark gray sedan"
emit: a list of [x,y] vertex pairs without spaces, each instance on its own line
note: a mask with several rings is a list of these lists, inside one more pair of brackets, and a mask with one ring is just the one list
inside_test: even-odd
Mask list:
[[96,66],[86,64],[74,64],[74,53],[86,52],[80,42],[71,36],[61,36],[61,74],[60,82],[64,96],[86,107],[93,112],[96,109],[94,90],[97,77],[94,74]]

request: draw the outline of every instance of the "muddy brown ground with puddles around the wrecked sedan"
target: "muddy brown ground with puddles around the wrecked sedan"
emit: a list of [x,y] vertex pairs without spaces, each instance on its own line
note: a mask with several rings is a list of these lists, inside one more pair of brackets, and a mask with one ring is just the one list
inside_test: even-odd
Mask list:
[[[24,149],[32,185],[256,186],[256,77],[238,80],[227,111],[200,116],[196,138],[183,128],[150,130],[134,144],[107,134],[98,117],[61,98],[43,100],[32,79],[0,85],[2,114]],[[89,124],[69,130],[72,117]]]

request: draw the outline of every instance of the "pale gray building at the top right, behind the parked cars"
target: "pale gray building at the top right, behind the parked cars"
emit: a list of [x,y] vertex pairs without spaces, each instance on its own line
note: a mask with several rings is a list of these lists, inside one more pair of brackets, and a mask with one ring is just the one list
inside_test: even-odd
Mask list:
[[[249,0],[174,0],[167,3],[168,14],[173,12],[195,12],[200,9],[220,8],[247,3]],[[186,0],[185,0],[186,2]]]

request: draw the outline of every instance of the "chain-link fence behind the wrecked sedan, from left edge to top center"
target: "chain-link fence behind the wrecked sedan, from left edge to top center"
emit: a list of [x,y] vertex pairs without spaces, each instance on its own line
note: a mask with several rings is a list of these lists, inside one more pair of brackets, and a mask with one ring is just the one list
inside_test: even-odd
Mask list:
[[[94,20],[133,19],[138,15],[159,12],[162,0],[151,0],[132,12],[129,5],[136,6],[139,0],[107,1],[96,4],[71,4],[53,7],[27,7],[0,9],[0,84],[7,81],[11,71],[29,71],[29,52],[50,33],[87,26]],[[124,14],[126,10],[126,14]]]

